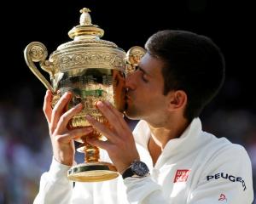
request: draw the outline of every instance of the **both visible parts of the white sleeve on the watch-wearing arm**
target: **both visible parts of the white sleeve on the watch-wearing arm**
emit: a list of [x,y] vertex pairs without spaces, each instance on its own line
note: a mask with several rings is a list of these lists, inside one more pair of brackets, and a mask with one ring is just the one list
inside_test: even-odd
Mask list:
[[[187,204],[252,204],[252,167],[246,150],[231,144],[212,156],[198,182],[190,187]],[[150,176],[125,178],[126,194],[132,204],[172,204]],[[173,203],[174,204],[174,203]]]

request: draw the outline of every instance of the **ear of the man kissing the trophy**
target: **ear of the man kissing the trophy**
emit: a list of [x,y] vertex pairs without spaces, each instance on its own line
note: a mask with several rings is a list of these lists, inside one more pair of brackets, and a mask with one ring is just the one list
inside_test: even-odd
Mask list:
[[187,105],[187,94],[183,90],[172,91],[169,93],[168,110],[175,111],[183,109]]

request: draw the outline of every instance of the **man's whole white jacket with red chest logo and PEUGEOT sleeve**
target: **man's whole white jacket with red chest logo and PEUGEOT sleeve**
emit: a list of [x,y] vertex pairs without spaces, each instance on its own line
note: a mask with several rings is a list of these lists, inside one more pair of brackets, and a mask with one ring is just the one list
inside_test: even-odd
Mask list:
[[[134,130],[141,160],[150,169],[146,178],[119,176],[110,181],[75,184],[67,180],[69,167],[52,161],[44,173],[34,204],[251,204],[252,167],[247,151],[229,140],[201,130],[195,118],[178,139],[171,139],[153,167],[148,153],[146,122]],[[109,160],[102,151],[101,156]]]

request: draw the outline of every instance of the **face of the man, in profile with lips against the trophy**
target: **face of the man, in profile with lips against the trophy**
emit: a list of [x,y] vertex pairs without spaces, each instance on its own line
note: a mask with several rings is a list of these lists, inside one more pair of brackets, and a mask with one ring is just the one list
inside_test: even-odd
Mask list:
[[125,115],[131,119],[157,121],[166,112],[167,99],[163,94],[163,62],[149,54],[141,59],[137,71],[125,80],[128,89]]

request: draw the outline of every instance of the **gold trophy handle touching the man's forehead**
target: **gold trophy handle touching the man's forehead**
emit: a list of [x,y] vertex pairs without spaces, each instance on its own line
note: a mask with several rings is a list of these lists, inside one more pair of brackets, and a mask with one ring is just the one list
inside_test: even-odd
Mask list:
[[127,74],[136,70],[136,67],[144,54],[146,54],[146,50],[140,46],[133,46],[128,50],[126,54],[127,65],[125,70]]

